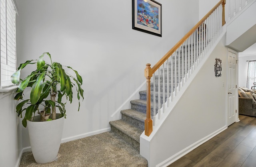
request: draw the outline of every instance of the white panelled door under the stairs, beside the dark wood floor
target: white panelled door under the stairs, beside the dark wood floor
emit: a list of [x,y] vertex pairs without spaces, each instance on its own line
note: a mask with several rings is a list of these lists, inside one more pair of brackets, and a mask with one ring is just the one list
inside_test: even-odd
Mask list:
[[237,52],[228,49],[228,126],[238,119],[237,55]]

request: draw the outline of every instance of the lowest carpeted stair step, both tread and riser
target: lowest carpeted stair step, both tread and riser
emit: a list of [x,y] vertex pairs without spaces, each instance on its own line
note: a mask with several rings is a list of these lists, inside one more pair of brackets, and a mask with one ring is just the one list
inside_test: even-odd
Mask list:
[[135,149],[140,150],[140,135],[144,130],[124,120],[110,121],[109,124],[112,132],[120,136],[127,143],[130,143]]

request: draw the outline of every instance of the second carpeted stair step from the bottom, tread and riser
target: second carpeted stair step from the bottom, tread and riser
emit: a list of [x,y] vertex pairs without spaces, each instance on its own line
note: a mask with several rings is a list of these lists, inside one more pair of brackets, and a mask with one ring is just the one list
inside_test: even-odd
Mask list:
[[121,110],[121,114],[122,120],[144,130],[144,121],[146,119],[146,114],[132,109]]

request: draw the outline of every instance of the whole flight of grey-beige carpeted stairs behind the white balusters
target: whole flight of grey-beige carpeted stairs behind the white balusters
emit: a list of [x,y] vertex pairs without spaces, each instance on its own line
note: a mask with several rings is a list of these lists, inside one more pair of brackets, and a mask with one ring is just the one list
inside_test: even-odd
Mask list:
[[[176,55],[176,65],[177,65],[177,76],[178,77],[178,56],[180,56],[180,60],[182,59],[182,50],[183,50],[183,59],[185,61],[185,56],[187,56],[187,67],[185,68],[185,65],[180,65],[180,70],[182,70],[182,67],[184,70],[191,67],[191,64],[194,63],[194,60],[188,59],[188,57],[191,56],[191,52],[193,49],[191,49],[190,45],[190,51],[188,51],[188,45],[185,49],[185,46],[183,49],[180,50],[180,54],[177,53]],[[185,52],[187,52],[185,54]],[[190,55],[188,55],[190,53]],[[175,61],[175,57],[172,57],[173,61]],[[188,67],[188,61],[190,62],[190,67]],[[164,69],[164,78],[165,83],[167,82],[167,68]],[[171,75],[171,65],[169,63],[169,76]],[[162,91],[163,88],[163,77],[162,77],[163,69],[161,70],[160,77],[158,75],[155,75],[155,82],[156,82],[156,103],[158,103],[158,79],[160,79],[160,90]],[[174,73],[174,67],[173,67],[173,73]],[[174,77],[174,74],[173,74]],[[182,76],[181,76],[182,77]],[[171,80],[169,80],[171,82]],[[175,84],[173,84],[175,86]],[[165,85],[166,87],[166,85]],[[153,83],[151,83],[151,100],[153,100]],[[175,88],[175,87],[173,87]],[[167,90],[165,88],[165,90]],[[171,91],[171,89],[170,89]],[[140,151],[140,135],[144,131],[144,120],[146,119],[146,90],[140,91],[140,99],[138,100],[131,100],[131,109],[121,110],[122,119],[121,120],[115,120],[110,121],[111,131],[114,132],[117,136],[124,139],[124,141],[130,143],[134,149]],[[160,94],[160,104],[162,106],[163,103],[163,95]],[[165,95],[165,101],[166,101],[167,95]],[[156,114],[158,110],[158,105],[156,105]],[[151,117],[153,117],[153,106],[151,105]]]

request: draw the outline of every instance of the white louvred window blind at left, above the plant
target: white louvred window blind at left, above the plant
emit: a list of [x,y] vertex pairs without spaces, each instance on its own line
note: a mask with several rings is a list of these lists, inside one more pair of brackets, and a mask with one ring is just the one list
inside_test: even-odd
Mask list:
[[16,10],[12,0],[0,0],[0,88],[13,85],[16,70]]

